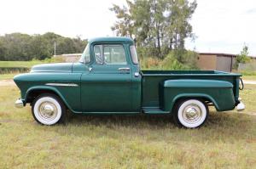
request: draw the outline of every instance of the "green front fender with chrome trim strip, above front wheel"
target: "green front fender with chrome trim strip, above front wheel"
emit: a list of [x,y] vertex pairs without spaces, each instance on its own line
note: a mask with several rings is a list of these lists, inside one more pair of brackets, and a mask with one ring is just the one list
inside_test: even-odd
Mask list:
[[81,73],[70,72],[38,72],[15,76],[14,81],[20,88],[21,99],[24,104],[32,91],[43,90],[57,94],[67,105],[69,110],[79,112],[81,110]]

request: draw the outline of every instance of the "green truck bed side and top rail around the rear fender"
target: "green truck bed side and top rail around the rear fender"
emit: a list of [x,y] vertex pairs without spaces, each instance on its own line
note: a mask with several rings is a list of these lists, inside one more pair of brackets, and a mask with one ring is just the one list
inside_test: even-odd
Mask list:
[[[240,74],[218,70],[142,70],[143,109],[160,109],[160,84],[166,80],[193,79],[218,80],[233,84],[235,99],[238,99]],[[158,90],[155,90],[158,88]]]

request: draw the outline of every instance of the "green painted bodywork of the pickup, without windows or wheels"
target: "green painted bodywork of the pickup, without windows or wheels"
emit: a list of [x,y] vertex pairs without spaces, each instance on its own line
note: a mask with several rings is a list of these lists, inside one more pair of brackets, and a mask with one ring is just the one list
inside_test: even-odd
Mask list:
[[[96,64],[96,44],[121,46],[127,64]],[[74,113],[102,114],[169,113],[177,99],[183,98],[206,99],[219,111],[233,110],[238,103],[241,75],[214,70],[140,70],[131,61],[133,44],[127,37],[95,38],[88,43],[90,63],[33,66],[30,73],[14,78],[21,99],[27,104],[34,93],[50,92]]]

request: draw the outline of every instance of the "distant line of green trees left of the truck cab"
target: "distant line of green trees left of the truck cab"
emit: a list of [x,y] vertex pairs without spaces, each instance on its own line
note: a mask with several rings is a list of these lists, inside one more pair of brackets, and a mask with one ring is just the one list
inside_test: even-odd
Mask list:
[[80,37],[61,37],[52,32],[44,35],[6,34],[0,37],[0,60],[46,59],[56,54],[81,53],[87,41]]

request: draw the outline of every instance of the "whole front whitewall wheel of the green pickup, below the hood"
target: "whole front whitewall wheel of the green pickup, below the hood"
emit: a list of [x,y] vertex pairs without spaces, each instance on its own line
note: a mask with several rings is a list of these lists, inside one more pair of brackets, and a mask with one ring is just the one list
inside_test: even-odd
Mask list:
[[42,94],[32,103],[32,115],[43,125],[55,125],[63,119],[65,113],[65,105],[54,94]]

